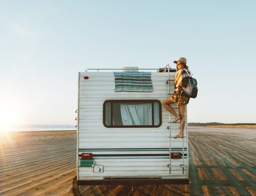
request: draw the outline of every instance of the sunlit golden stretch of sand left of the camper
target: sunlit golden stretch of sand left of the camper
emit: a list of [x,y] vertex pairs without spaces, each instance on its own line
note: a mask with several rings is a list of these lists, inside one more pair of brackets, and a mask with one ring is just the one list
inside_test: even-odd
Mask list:
[[0,136],[0,195],[73,195],[76,131]]

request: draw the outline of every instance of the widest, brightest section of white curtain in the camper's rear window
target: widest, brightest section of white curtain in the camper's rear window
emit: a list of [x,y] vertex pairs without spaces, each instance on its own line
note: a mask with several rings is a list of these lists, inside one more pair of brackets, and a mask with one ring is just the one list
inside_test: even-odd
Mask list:
[[121,104],[123,125],[152,125],[152,104]]

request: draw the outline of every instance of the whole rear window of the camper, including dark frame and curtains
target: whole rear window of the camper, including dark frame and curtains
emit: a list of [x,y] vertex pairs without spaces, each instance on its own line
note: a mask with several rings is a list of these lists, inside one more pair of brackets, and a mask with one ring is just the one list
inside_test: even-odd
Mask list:
[[103,104],[105,127],[159,127],[162,104],[158,100],[107,100]]

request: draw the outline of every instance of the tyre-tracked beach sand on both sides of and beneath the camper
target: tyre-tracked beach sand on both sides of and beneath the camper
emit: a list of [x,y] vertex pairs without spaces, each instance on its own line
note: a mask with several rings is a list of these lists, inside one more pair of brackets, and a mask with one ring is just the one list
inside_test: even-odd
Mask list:
[[[80,186],[82,195],[256,195],[256,129],[190,127],[190,184]],[[76,131],[0,136],[0,195],[73,195]],[[101,195],[101,194],[98,194]]]

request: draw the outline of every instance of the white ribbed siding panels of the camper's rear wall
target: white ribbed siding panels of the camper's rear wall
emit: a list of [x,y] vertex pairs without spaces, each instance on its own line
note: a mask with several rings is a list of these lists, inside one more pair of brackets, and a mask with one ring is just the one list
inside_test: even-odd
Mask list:
[[[89,79],[84,79],[84,76],[88,76]],[[171,73],[171,79],[173,78],[174,73]],[[153,92],[115,92],[115,79],[112,72],[80,73],[79,149],[169,148],[169,129],[166,128],[169,126],[168,112],[164,107],[162,107],[162,126],[157,128],[107,128],[102,122],[102,106],[105,100],[163,101],[168,96],[166,79],[168,79],[167,73],[152,73]],[[172,83],[171,92],[173,90],[174,84]],[[178,112],[176,104],[173,106]],[[174,117],[171,116],[172,120]],[[179,132],[179,123],[171,124],[171,129],[171,135],[176,135]],[[172,147],[182,147],[182,139],[171,138],[171,143]],[[185,141],[185,147],[187,147],[187,141]],[[169,149],[165,152],[168,154]],[[113,154],[113,151],[109,153]],[[104,173],[93,173],[91,167],[79,167],[79,180],[102,179],[106,176],[170,176],[167,167],[169,157],[97,157],[95,160],[96,164],[104,165]],[[172,160],[172,163],[177,164],[177,167],[172,168],[172,177],[187,176],[186,169],[182,175],[182,169],[179,167],[180,163],[183,163],[182,160]],[[187,164],[187,157],[185,164]]]

